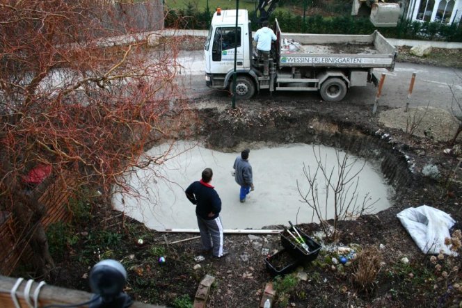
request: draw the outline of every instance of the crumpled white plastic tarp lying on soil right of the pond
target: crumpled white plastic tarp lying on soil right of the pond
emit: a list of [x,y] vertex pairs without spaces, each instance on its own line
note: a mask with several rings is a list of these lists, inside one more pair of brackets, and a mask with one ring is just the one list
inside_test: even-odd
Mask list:
[[449,229],[456,222],[449,214],[431,206],[410,207],[397,214],[401,224],[409,232],[424,254],[456,255],[445,245],[445,238],[451,237]]

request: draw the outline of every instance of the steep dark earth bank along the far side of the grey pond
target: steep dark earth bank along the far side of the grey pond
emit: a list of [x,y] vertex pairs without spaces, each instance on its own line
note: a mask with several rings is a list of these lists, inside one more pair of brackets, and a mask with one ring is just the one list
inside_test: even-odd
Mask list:
[[411,162],[379,128],[321,115],[310,110],[268,108],[262,113],[241,116],[208,111],[209,125],[205,131],[207,147],[223,152],[238,152],[253,144],[306,143],[342,149],[349,154],[374,161],[389,185],[397,193],[411,188],[415,177]]

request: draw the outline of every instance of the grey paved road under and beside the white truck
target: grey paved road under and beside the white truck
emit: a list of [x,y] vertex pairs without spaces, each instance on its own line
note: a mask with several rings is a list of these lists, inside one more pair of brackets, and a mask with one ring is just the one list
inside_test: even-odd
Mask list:
[[[204,56],[203,51],[187,51],[180,54],[182,63],[182,76],[179,81],[191,97],[210,97],[221,100],[229,98],[223,92],[211,90],[205,86]],[[413,72],[416,72],[413,95],[410,106],[433,106],[445,108],[450,111],[452,104],[452,87],[462,97],[462,70],[447,67],[434,67],[430,65],[418,65],[413,63],[397,63],[394,72],[376,70],[380,75],[385,72],[385,83],[379,104],[399,107],[406,106],[408,87]],[[317,92],[277,92],[272,97],[264,90],[260,98],[273,100],[321,100]],[[346,104],[374,104],[376,88],[373,85],[367,87],[351,88],[346,95]]]

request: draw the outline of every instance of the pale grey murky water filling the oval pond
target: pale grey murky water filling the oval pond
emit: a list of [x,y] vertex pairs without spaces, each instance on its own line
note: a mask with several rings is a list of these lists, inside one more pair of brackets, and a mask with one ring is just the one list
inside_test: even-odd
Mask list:
[[[161,154],[167,146],[152,147],[148,154]],[[240,152],[219,152],[180,141],[175,143],[171,154],[177,156],[166,161],[156,174],[152,170],[137,169],[127,175],[129,184],[138,196],[116,193],[113,204],[116,209],[124,211],[149,228],[190,232],[197,229],[195,205],[186,199],[184,189],[200,179],[204,168],[212,168],[214,171],[212,185],[221,197],[223,227],[262,229],[273,225],[288,225],[288,220],[294,223],[319,222],[310,206],[301,202],[301,193],[308,193],[310,188],[303,168],[314,176],[317,161],[321,161],[328,175],[332,172],[330,183],[335,185],[339,173],[337,160],[342,161],[345,152],[305,143],[250,148],[249,161],[253,167],[255,191],[250,192],[244,203],[239,201],[239,185],[231,175],[234,159]],[[353,198],[360,206],[366,199],[367,204],[372,206],[367,213],[377,213],[390,207],[394,190],[386,183],[379,163],[348,155],[348,167],[345,170],[349,173],[346,179],[359,173],[344,189],[344,204]],[[334,193],[332,189],[327,192],[326,180],[320,170],[316,183],[322,215],[326,215],[327,219],[333,218]],[[308,200],[312,200],[311,194]]]

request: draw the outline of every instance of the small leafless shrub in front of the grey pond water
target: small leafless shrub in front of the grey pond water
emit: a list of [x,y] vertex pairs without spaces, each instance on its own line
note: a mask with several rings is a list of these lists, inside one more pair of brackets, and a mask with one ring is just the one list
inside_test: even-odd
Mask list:
[[[337,161],[328,170],[327,159],[325,158],[324,161],[321,159],[320,147],[316,151],[313,146],[313,154],[317,163],[316,168],[311,170],[309,166],[307,168],[303,164],[303,175],[305,175],[308,187],[303,190],[301,188],[303,184],[299,184],[297,180],[298,193],[301,195],[302,202],[313,210],[313,218],[314,215],[318,218],[326,238],[336,241],[337,225],[340,220],[357,218],[367,213],[379,200],[372,202],[369,193],[363,197],[363,200],[359,200],[358,175],[365,163],[358,171],[355,171],[353,167],[358,159],[350,159],[349,154],[341,154],[340,151],[335,150]],[[320,197],[319,191],[325,193],[324,200]],[[329,209],[333,209],[332,224],[328,222]]]

